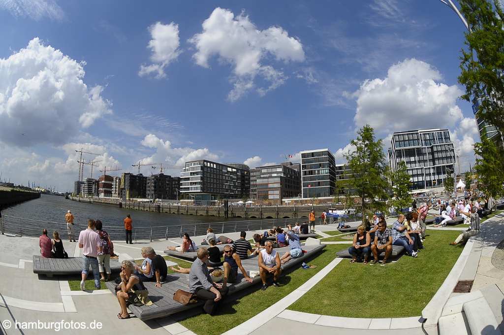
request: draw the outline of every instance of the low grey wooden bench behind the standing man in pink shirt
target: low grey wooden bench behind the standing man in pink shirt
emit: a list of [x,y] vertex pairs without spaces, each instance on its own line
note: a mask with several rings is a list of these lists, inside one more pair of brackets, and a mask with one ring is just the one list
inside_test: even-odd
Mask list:
[[[110,260],[110,270],[119,272],[121,266],[115,259]],[[45,274],[52,277],[54,274],[81,274],[82,257],[46,258],[33,255],[33,273]]]

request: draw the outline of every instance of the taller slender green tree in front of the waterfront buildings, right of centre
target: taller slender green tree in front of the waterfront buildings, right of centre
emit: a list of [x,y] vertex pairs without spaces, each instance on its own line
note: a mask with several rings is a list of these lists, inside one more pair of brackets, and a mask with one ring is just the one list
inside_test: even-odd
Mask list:
[[344,157],[351,171],[351,179],[347,181],[347,185],[361,198],[360,206],[355,209],[357,213],[362,213],[364,222],[366,214],[375,210],[387,211],[384,199],[388,198],[389,183],[385,179],[386,164],[382,140],[374,139],[374,130],[369,125],[362,127],[357,135],[357,138],[350,142],[355,150],[347,152]]

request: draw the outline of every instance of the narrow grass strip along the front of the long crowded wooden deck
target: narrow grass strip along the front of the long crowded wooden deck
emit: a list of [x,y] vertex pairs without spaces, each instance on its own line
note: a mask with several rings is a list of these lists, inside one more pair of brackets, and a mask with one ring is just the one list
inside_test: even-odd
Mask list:
[[179,322],[197,334],[221,334],[262,312],[304,284],[309,278],[334,260],[336,251],[344,248],[345,246],[339,245],[326,246],[317,258],[308,262],[309,264],[317,265],[317,268],[308,270],[298,268],[282,276],[279,280],[282,286],[279,288],[269,287],[266,291],[261,291],[259,290],[259,285],[255,286],[254,290],[256,291],[235,301],[221,305],[221,310],[217,316],[199,314]]

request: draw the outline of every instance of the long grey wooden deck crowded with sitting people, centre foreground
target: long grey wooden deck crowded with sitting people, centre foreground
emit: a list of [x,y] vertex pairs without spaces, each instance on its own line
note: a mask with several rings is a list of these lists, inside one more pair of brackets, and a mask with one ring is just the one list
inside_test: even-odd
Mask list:
[[[322,249],[325,248],[324,244],[321,245],[316,245],[316,246],[306,246],[303,247],[303,250],[306,250],[307,252],[303,254],[299,258],[294,258],[287,263],[282,265],[282,275],[289,272],[289,270],[292,270],[294,268],[297,268],[299,264],[302,262],[307,261],[308,259],[311,259],[315,255],[317,255]],[[289,250],[288,247],[285,248],[279,248],[277,251],[280,253],[280,257]],[[259,270],[259,265],[258,265],[258,256],[251,256],[247,259],[244,259],[241,261],[243,268],[247,271],[258,271]],[[173,300],[173,293],[177,291],[178,289],[188,291],[188,278],[187,274],[182,274],[182,273],[174,273],[174,274],[169,274],[166,277],[166,282],[163,283],[161,288],[157,288],[155,286],[155,283],[152,282],[147,282],[144,283],[145,287],[149,291],[149,298],[153,302],[151,306],[141,306],[141,307],[136,307],[133,305],[130,305],[128,309],[135,314],[140,320],[149,320],[149,319],[155,319],[155,318],[161,318],[165,317],[177,312],[181,312],[184,310],[196,308],[198,306],[201,306],[203,302],[197,302],[194,304],[188,304],[188,305],[182,305],[176,301]],[[241,273],[241,271],[238,270],[238,276],[236,283],[234,284],[228,284],[229,287],[229,296],[232,296],[236,292],[239,292],[245,288],[257,285],[261,283],[261,277],[259,275],[255,276],[253,278],[252,283],[248,283],[244,280],[244,277]],[[105,283],[107,288],[115,294],[115,283],[112,282],[107,282]],[[288,285],[288,284],[287,284]],[[294,289],[294,288],[293,288]],[[227,298],[226,298],[227,299]]]

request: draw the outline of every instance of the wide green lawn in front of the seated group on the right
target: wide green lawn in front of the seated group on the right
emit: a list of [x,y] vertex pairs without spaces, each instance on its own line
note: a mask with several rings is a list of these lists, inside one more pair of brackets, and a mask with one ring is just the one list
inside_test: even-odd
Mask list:
[[[289,309],[346,317],[421,315],[462,252],[463,246],[449,245],[459,234],[430,231],[424,242],[426,249],[418,258],[402,256],[386,266],[350,264],[343,260]],[[408,297],[407,306],[398,297]]]

